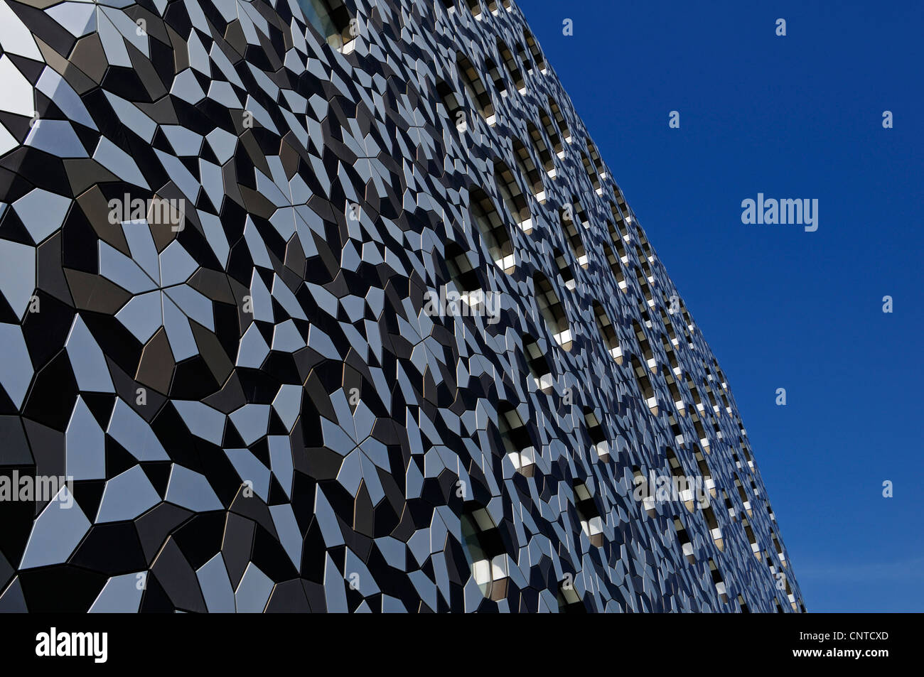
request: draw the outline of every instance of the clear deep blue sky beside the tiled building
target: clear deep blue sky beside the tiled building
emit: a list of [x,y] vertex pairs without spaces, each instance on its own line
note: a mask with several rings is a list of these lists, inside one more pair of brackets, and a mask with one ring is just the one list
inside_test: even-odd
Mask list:
[[[924,611],[924,3],[518,2],[728,377],[808,611]],[[759,192],[818,231],[742,224]]]

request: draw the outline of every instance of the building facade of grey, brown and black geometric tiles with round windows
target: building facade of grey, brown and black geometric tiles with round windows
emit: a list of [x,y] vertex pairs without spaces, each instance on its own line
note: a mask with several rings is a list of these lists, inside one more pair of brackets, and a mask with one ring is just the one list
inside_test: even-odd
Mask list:
[[522,13],[0,0],[0,611],[804,611]]

